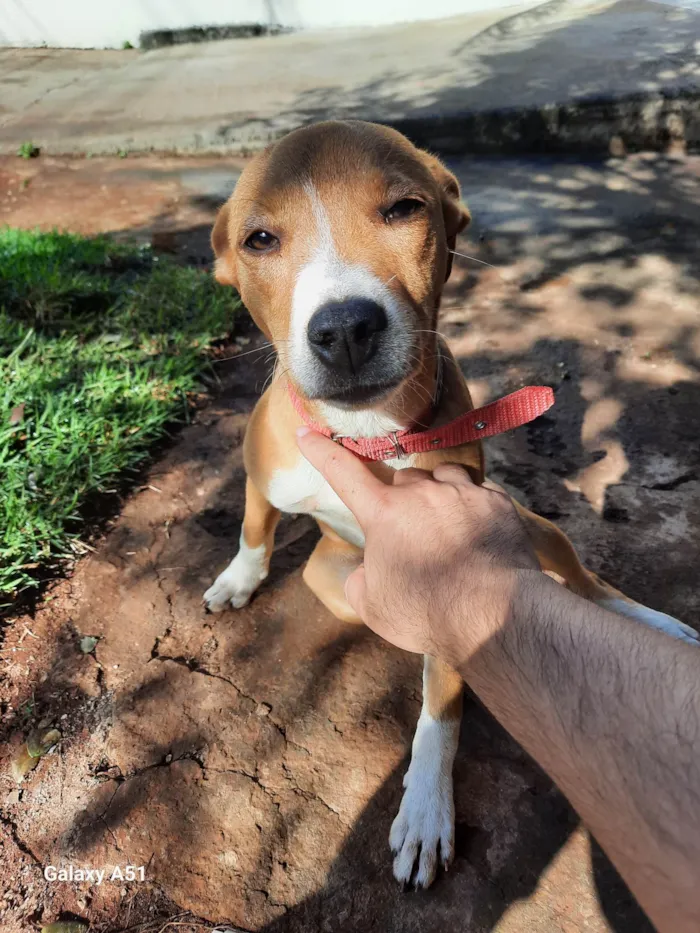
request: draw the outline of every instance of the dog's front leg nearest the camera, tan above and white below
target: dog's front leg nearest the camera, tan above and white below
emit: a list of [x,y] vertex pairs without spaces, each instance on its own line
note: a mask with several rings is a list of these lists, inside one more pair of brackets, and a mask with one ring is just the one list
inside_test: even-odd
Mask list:
[[[447,867],[454,855],[452,765],[462,719],[462,678],[435,658],[423,664],[423,708],[413,739],[403,800],[389,843],[394,875],[402,884],[427,888],[438,859]],[[415,874],[414,874],[415,869]]]

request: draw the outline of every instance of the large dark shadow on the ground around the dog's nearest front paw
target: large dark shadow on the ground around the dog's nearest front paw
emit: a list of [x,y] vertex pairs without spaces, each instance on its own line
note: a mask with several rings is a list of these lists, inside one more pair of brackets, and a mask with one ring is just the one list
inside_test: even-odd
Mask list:
[[[499,780],[499,764],[511,779],[517,769],[522,781],[517,790],[508,786],[508,780]],[[402,768],[407,765],[408,759]],[[482,784],[466,803],[469,794],[464,793],[465,785],[474,790],[487,775],[493,786],[487,789]],[[542,873],[579,826],[577,815],[548,776],[478,701],[467,699],[455,770],[455,861],[430,890],[402,892],[390,875],[386,842],[400,801],[399,777],[400,771],[394,773],[355,821],[322,888],[267,924],[264,933],[331,929],[339,933],[488,933],[519,902],[536,892]],[[499,794],[504,798],[500,803]],[[466,803],[462,812],[460,803]],[[489,813],[482,809],[487,807]],[[610,929],[615,933],[653,933],[652,925],[593,840],[591,856],[597,893]],[[575,885],[570,875],[559,880]],[[569,907],[562,898],[558,920],[566,917],[575,923],[570,898],[576,894],[569,890],[568,895]],[[514,919],[504,929],[524,929],[519,922],[528,921]]]

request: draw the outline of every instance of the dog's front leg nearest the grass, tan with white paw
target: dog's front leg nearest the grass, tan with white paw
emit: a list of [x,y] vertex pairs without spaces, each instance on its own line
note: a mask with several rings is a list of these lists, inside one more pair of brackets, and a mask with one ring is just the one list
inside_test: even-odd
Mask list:
[[245,606],[265,579],[279,517],[279,510],[248,477],[238,554],[204,594],[204,604],[211,612],[221,612],[229,603],[234,609]]

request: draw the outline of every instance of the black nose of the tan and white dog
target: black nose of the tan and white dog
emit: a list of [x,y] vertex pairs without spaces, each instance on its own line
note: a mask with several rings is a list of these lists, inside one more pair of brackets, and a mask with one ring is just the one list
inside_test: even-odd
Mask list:
[[311,349],[327,366],[353,375],[377,351],[387,326],[386,311],[369,298],[348,298],[323,305],[309,321]]

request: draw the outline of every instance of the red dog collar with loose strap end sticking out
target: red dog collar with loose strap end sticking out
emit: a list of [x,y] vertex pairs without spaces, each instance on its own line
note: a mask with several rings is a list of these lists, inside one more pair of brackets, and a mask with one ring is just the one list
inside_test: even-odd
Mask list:
[[354,438],[335,435],[326,425],[312,421],[292,384],[288,383],[287,388],[292,405],[308,427],[330,437],[361,460],[393,460],[395,457],[470,444],[534,421],[554,404],[554,392],[549,386],[525,386],[483,408],[468,411],[439,428],[427,431],[408,428],[405,431],[393,431],[386,437]]

